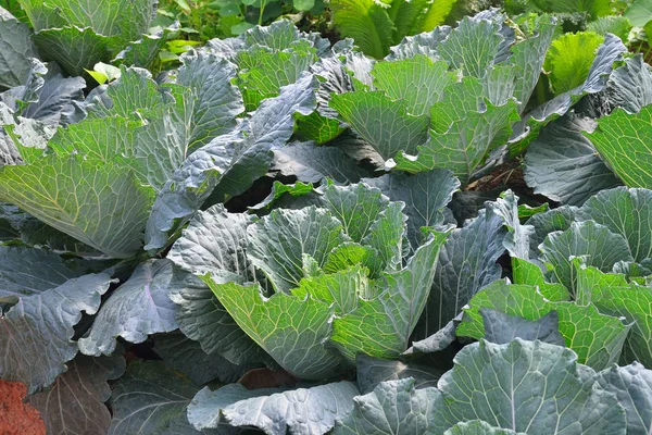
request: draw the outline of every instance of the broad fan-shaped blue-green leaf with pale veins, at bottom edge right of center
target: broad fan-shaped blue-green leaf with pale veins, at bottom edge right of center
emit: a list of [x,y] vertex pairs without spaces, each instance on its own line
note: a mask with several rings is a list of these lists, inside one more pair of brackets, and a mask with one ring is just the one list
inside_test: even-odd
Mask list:
[[[625,411],[597,388],[595,373],[572,350],[519,338],[466,346],[439,380],[434,420],[441,432],[460,421],[539,434],[625,435]],[[438,432],[436,432],[438,433]]]

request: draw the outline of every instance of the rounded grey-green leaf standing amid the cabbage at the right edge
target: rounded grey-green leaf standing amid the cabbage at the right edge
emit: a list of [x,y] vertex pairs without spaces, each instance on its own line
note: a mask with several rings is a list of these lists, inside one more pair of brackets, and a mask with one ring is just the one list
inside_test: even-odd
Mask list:
[[618,261],[632,261],[627,240],[593,221],[574,222],[564,232],[550,233],[539,246],[541,259],[552,265],[553,275],[574,294],[576,277],[569,257],[587,257],[587,265],[611,271]]

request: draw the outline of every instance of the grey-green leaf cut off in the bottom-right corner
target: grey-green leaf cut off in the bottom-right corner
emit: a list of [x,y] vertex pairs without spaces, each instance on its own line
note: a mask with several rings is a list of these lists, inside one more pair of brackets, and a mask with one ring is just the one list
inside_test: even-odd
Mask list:
[[616,395],[627,414],[627,434],[644,435],[652,431],[652,372],[635,362],[612,366],[598,374],[600,386]]

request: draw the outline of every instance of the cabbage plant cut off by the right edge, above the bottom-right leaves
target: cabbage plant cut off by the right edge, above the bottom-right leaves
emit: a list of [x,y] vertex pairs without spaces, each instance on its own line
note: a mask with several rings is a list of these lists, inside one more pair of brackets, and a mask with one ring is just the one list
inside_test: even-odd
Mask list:
[[515,284],[499,281],[476,293],[456,334],[501,339],[556,324],[553,330],[587,365],[602,370],[635,360],[649,365],[651,195],[604,190],[579,209],[554,209],[526,224],[517,219],[513,195],[488,203],[507,227],[503,245]]

